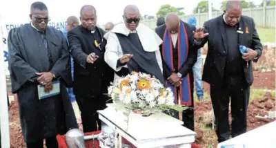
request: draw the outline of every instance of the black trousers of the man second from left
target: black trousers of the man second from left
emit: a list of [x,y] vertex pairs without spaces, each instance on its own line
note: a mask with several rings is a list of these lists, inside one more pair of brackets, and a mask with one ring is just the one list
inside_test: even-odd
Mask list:
[[100,95],[97,98],[81,98],[76,95],[77,104],[81,111],[83,132],[101,130],[101,120],[97,110],[106,109],[108,95]]

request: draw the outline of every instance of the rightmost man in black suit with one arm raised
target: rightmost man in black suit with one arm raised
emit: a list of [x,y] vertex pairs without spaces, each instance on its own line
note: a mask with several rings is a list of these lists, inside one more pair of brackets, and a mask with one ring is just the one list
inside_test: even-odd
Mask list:
[[[228,1],[223,15],[204,23],[195,31],[197,44],[208,41],[208,53],[202,80],[210,84],[217,137],[219,142],[228,140],[228,106],[231,98],[232,137],[246,132],[246,112],[253,84],[252,62],[262,55],[254,20],[242,15],[240,1]],[[205,37],[206,36],[206,37]],[[248,53],[242,54],[239,46],[246,46]]]

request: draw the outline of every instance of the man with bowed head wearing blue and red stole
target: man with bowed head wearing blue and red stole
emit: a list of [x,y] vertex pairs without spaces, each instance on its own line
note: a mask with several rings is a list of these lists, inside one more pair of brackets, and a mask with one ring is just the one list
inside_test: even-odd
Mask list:
[[[193,110],[193,65],[197,62],[197,46],[194,44],[193,31],[190,26],[181,21],[175,13],[166,16],[165,24],[157,27],[155,32],[163,43],[159,46],[163,59],[163,74],[168,87],[175,94],[175,104],[188,106],[183,111],[184,127],[194,130]],[[175,111],[174,111],[175,112]],[[178,113],[172,113],[175,118]]]

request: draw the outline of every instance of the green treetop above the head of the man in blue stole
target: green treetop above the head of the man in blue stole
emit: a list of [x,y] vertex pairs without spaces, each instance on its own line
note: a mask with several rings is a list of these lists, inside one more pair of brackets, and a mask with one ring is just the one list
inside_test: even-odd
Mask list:
[[159,8],[156,15],[157,17],[166,17],[169,12],[175,12],[179,16],[183,16],[184,12],[181,12],[179,8],[170,6],[169,4],[163,5]]

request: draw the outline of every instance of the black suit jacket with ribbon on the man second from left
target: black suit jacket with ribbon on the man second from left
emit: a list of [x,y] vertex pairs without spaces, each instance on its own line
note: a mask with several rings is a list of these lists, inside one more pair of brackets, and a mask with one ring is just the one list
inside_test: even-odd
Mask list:
[[[78,26],[68,32],[68,42],[70,53],[74,59],[74,93],[84,98],[97,98],[102,93],[107,93],[107,87],[113,81],[114,71],[104,62],[104,52],[106,41],[103,41],[105,32],[96,27],[97,33],[101,37],[99,47],[95,46],[95,41],[89,30]],[[86,57],[90,53],[98,55],[94,64],[86,63]]]

